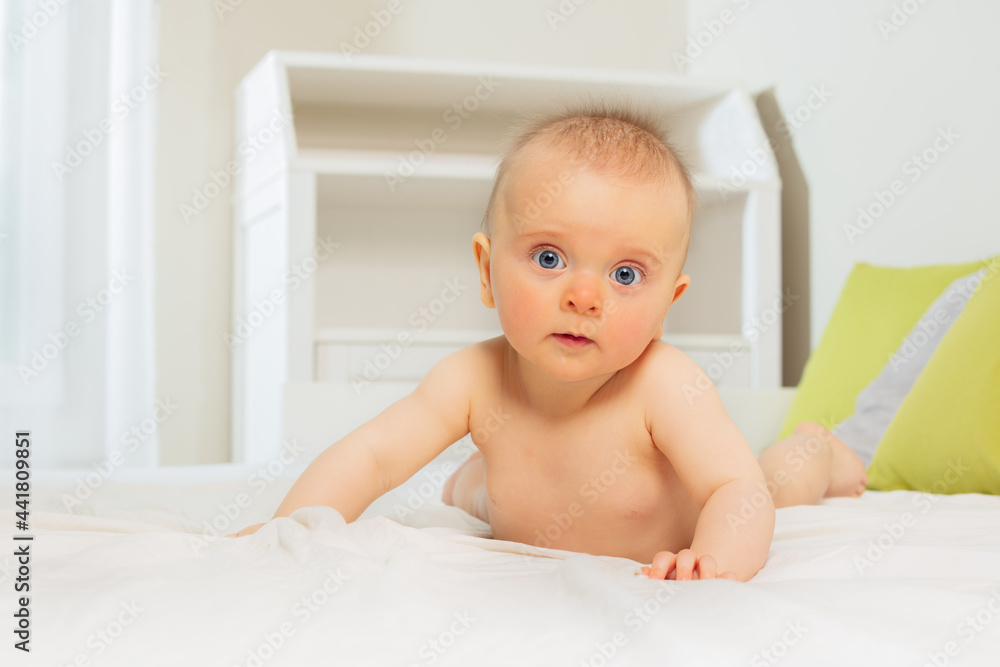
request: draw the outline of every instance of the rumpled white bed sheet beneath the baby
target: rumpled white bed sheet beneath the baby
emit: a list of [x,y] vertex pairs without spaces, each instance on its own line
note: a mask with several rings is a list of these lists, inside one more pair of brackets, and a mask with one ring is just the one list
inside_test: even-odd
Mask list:
[[[409,490],[349,525],[313,507],[250,537],[214,538],[213,521],[228,532],[266,520],[297,476],[255,486],[250,469],[218,470],[225,480],[111,479],[74,514],[61,498],[78,474],[36,481],[32,652],[11,649],[8,633],[2,654],[15,660],[3,664],[920,666],[1000,656],[998,497],[867,492],[786,508],[753,581],[653,582],[629,560],[489,539],[485,524],[436,498],[409,495],[413,513],[400,511]],[[224,526],[240,493],[251,504]],[[7,544],[12,498],[0,484]],[[14,566],[0,559],[5,614]]]

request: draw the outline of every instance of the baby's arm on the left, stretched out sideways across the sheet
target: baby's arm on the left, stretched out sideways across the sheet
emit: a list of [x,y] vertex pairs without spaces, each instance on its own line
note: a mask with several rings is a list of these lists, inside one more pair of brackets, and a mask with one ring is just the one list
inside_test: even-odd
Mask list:
[[[330,445],[295,481],[273,518],[300,507],[333,507],[351,522],[469,432],[469,401],[479,352],[454,352],[416,390]],[[248,535],[263,524],[245,528]]]

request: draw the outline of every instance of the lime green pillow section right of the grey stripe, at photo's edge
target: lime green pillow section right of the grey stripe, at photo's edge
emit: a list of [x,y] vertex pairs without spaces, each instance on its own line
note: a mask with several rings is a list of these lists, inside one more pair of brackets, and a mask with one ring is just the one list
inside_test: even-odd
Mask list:
[[1000,494],[998,271],[986,272],[899,406],[869,489]]

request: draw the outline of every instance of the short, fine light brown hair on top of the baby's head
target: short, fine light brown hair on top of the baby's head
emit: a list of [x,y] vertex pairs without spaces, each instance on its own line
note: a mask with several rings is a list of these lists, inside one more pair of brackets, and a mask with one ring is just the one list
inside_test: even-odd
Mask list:
[[[554,149],[582,164],[636,183],[661,179],[681,186],[687,198],[687,239],[697,200],[691,176],[670,145],[657,116],[628,103],[587,104],[535,117],[515,129],[497,168],[493,191],[483,216],[486,235],[493,238],[498,203],[511,174],[529,149]],[[687,243],[685,243],[686,249]],[[686,252],[685,252],[686,254]]]

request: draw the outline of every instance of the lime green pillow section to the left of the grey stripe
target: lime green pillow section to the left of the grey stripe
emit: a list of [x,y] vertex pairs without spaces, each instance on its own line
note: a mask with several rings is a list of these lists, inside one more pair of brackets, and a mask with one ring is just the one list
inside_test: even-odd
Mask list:
[[954,280],[989,263],[913,269],[856,264],[802,372],[779,439],[790,436],[799,422],[833,428],[854,414],[858,394],[881,372],[928,306]]

